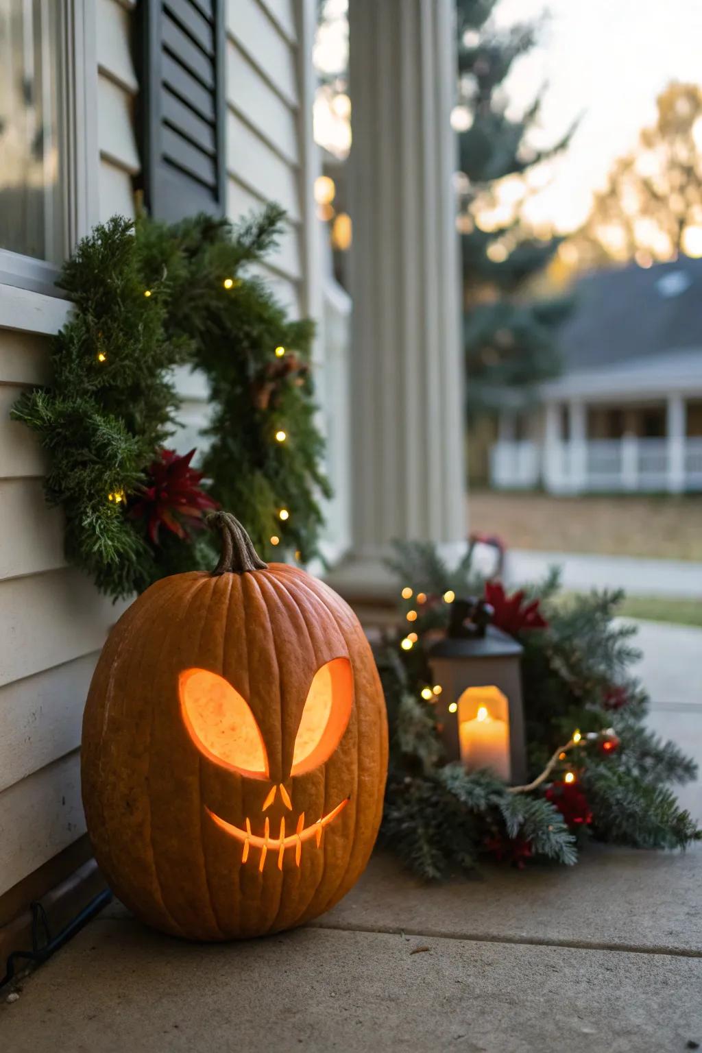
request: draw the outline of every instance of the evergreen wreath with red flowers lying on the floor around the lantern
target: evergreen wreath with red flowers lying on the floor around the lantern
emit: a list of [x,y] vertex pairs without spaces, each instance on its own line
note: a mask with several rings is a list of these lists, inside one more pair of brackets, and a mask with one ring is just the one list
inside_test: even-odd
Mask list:
[[[613,623],[623,594],[563,598],[554,570],[507,596],[472,562],[473,547],[450,570],[430,544],[396,545],[401,616],[417,617],[410,635],[393,632],[378,651],[390,729],[385,843],[421,877],[438,879],[485,857],[570,866],[590,837],[662,849],[701,839],[671,789],[694,779],[697,766],[644,723],[648,698],[629,673],[636,628]],[[446,763],[437,732],[429,645],[454,598],[483,592],[495,624],[524,648],[525,787]]]

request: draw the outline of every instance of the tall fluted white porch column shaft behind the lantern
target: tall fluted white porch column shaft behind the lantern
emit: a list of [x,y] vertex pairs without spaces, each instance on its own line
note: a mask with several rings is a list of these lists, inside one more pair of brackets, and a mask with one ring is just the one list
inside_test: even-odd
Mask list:
[[354,550],[467,532],[452,0],[352,0]]

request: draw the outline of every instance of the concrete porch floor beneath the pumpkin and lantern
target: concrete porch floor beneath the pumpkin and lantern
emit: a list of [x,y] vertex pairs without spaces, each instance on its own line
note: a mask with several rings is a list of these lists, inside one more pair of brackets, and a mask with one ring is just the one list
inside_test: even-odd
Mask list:
[[[702,631],[641,629],[651,724],[702,760]],[[681,797],[702,818],[700,782]],[[113,903],[22,988],[0,996],[2,1051],[702,1048],[702,846],[593,845],[571,870],[436,887],[378,853],[314,926],[245,943],[184,943]]]

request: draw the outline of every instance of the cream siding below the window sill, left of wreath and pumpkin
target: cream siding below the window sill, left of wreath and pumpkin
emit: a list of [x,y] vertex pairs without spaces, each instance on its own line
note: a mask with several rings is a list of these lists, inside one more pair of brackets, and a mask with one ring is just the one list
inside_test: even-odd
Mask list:
[[63,516],[43,497],[45,457],[8,417],[22,390],[46,379],[47,353],[45,337],[0,329],[0,895],[84,831],[81,715],[124,607],[66,567]]

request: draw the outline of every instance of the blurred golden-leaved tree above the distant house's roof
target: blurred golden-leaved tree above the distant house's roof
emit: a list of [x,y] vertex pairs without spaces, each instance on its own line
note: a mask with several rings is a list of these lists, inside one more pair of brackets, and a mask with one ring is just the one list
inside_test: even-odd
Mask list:
[[[671,83],[656,123],[613,165],[565,258],[581,267],[702,256],[702,88]],[[565,247],[565,246],[564,246]]]

